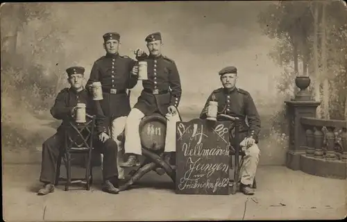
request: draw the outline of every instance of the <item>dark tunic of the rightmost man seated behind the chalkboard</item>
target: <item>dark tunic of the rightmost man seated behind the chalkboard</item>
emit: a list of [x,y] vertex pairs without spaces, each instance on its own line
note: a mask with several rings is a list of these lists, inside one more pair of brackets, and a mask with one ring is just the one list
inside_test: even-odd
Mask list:
[[260,116],[251,94],[236,87],[231,92],[223,87],[215,89],[205,103],[200,114],[201,119],[206,118],[206,110],[210,101],[218,102],[218,114],[228,114],[242,120],[239,126],[240,139],[248,136],[253,137],[257,142],[260,132]]

